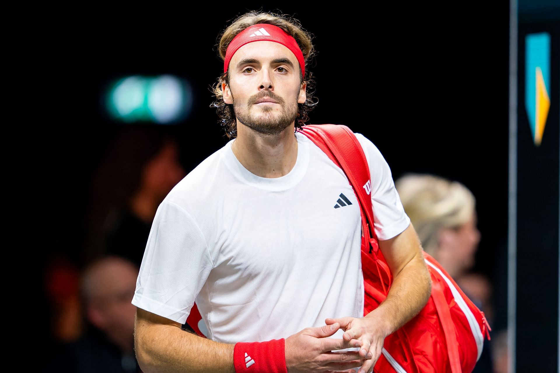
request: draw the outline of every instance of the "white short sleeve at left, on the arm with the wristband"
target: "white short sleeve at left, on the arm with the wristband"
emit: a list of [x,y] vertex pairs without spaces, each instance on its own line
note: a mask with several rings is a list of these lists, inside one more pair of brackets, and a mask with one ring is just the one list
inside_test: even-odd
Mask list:
[[164,200],[152,223],[132,304],[184,324],[212,268],[192,216]]

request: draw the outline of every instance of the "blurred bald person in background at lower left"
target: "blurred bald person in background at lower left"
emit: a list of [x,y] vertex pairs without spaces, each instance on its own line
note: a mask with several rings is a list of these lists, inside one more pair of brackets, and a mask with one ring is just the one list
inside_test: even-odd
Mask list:
[[137,276],[138,267],[117,256],[105,256],[85,268],[80,295],[86,332],[60,346],[47,372],[142,372],[134,356],[136,307],[130,304]]

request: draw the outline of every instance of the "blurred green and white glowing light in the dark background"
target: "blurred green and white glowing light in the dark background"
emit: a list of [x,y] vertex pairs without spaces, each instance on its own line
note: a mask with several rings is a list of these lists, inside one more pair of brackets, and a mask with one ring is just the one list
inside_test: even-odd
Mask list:
[[111,87],[107,100],[109,114],[125,122],[178,122],[189,115],[191,107],[190,84],[173,75],[120,79]]

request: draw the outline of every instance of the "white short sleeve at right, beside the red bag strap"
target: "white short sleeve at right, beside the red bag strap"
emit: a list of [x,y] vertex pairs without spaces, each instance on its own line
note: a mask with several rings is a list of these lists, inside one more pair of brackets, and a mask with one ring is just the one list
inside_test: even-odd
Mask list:
[[379,149],[360,133],[356,133],[356,138],[362,145],[370,168],[375,234],[381,240],[393,238],[408,228],[410,218],[404,212],[391,169]]

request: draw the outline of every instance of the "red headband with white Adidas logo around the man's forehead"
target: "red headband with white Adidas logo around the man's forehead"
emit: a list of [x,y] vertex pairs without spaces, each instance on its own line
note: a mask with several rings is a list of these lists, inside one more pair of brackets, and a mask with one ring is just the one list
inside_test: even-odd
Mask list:
[[241,48],[245,44],[251,43],[252,41],[261,40],[274,41],[290,49],[293,55],[296,56],[297,61],[300,63],[301,76],[305,77],[304,54],[301,53],[300,46],[297,45],[296,39],[293,39],[292,36],[286,34],[286,32],[280,27],[270,25],[269,23],[258,23],[258,25],[249,26],[234,37],[234,40],[232,40],[230,45],[227,46],[226,60],[223,62],[223,72],[227,73],[230,60],[237,49]]

